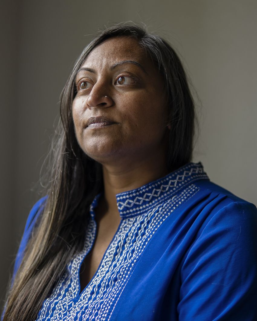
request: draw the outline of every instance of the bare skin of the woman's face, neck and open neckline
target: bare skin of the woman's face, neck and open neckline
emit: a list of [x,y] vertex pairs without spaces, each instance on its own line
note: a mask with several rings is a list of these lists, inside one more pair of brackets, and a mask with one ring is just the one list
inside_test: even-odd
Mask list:
[[[128,60],[136,63],[122,63]],[[72,113],[77,141],[102,164],[104,183],[96,209],[97,237],[81,269],[82,290],[120,223],[116,194],[168,173],[169,127],[162,76],[135,38],[111,38],[93,49],[75,82]],[[87,126],[90,117],[100,116],[114,124]]]

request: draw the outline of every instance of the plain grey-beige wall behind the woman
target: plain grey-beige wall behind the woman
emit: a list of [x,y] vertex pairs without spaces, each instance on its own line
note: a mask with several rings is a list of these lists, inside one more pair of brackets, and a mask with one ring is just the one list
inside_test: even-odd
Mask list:
[[144,22],[182,56],[201,101],[194,160],[256,204],[257,2],[2,0],[0,299],[76,57],[98,27]]

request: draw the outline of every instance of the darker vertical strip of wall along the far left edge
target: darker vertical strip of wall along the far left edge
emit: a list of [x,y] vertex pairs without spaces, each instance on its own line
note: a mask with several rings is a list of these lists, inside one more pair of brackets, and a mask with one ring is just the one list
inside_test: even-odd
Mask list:
[[[3,14],[5,12],[5,14]],[[0,116],[0,299],[5,291],[9,277],[10,265],[14,259],[20,235],[14,223],[15,203],[17,202],[16,189],[16,163],[17,163],[17,137],[16,137],[16,90],[18,85],[18,8],[15,2],[0,2],[0,30],[1,37],[1,116]],[[12,85],[13,84],[13,85]],[[25,183],[26,184],[26,183]],[[24,213],[25,214],[25,213]],[[14,234],[15,233],[15,234]],[[1,302],[2,303],[2,302]],[[1,308],[0,308],[1,310]]]

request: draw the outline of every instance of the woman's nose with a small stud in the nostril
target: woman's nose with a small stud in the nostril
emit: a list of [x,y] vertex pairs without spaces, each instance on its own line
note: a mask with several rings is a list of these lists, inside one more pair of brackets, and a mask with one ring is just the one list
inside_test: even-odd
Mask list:
[[108,91],[107,87],[103,84],[95,83],[88,95],[86,105],[88,109],[95,107],[111,107],[113,105],[113,100],[110,97],[110,91]]

